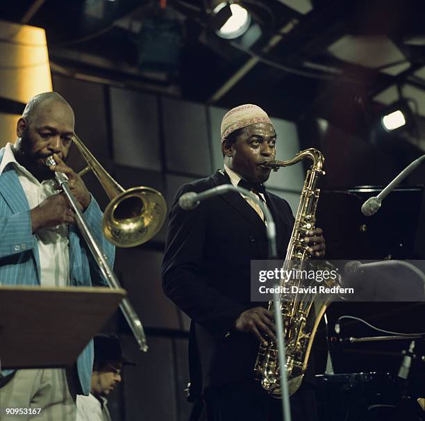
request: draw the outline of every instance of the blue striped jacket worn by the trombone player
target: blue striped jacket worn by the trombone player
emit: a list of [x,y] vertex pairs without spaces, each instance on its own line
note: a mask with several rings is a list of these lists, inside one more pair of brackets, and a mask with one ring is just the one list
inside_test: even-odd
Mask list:
[[[0,163],[4,151],[0,149]],[[113,265],[115,247],[103,237],[102,213],[94,197],[83,215],[103,254]],[[31,213],[24,189],[15,167],[6,165],[0,174],[0,285],[40,286],[37,238],[31,231]],[[106,284],[74,224],[69,225],[69,279],[73,286]],[[92,367],[93,343],[90,341],[77,358],[78,378],[85,395],[90,392]],[[1,374],[10,372],[12,370],[3,370]]]

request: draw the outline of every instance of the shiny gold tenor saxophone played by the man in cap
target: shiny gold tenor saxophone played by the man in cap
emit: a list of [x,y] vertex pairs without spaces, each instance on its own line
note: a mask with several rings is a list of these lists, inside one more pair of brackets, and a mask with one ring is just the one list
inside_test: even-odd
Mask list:
[[[309,246],[304,243],[303,238],[306,237],[308,231],[315,229],[315,213],[320,192],[316,185],[319,177],[325,174],[323,170],[324,156],[317,149],[310,148],[299,152],[291,160],[274,160],[267,163],[269,167],[277,171],[280,167],[294,165],[304,158],[313,160],[313,165],[307,171],[301,192],[294,228],[285,257],[283,267],[285,270],[303,270],[309,258]],[[285,279],[285,286],[299,286],[300,282],[300,279]],[[283,283],[282,280],[281,283]],[[326,281],[326,285],[334,286],[335,283]],[[294,299],[294,295],[289,296],[282,293],[280,298],[285,338],[285,370],[288,376],[289,393],[292,395],[301,386],[317,326],[326,311],[329,300],[319,294],[299,295]],[[269,310],[274,311],[273,301],[269,302]],[[263,388],[273,397],[281,397],[278,347],[275,342],[268,340],[267,346],[260,345],[254,370]]]

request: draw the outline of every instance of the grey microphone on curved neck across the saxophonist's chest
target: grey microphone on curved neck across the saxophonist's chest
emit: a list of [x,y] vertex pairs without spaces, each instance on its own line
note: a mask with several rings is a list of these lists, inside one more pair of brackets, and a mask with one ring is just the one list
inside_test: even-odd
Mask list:
[[274,220],[272,214],[269,211],[269,208],[265,205],[265,203],[258,199],[256,195],[254,195],[249,190],[234,186],[233,184],[222,184],[218,185],[215,188],[210,188],[205,192],[196,193],[196,192],[187,192],[178,199],[178,205],[185,210],[192,210],[199,206],[202,200],[208,199],[209,197],[214,197],[217,195],[223,195],[226,192],[238,192],[242,193],[242,195],[249,197],[249,199],[253,200],[260,206],[261,210],[263,210],[263,215],[265,217],[266,224],[266,233],[267,239],[269,240],[269,257],[275,258],[277,256],[277,248],[276,248],[276,226],[274,224]]

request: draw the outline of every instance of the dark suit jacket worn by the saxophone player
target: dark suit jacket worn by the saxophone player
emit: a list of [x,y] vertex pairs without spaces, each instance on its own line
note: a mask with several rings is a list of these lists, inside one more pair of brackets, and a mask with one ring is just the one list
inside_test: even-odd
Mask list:
[[[258,352],[256,338],[232,329],[240,313],[259,305],[251,302],[250,269],[252,259],[267,258],[264,222],[236,192],[207,199],[194,210],[178,206],[185,192],[226,183],[227,174],[217,171],[183,185],[169,215],[163,288],[192,319],[190,374],[198,391],[253,379]],[[287,201],[265,196],[276,223],[278,255],[285,258],[294,217]]]

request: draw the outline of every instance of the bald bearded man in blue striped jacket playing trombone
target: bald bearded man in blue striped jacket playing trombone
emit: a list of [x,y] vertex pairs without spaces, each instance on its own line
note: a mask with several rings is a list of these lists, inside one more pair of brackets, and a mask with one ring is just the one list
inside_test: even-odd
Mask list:
[[[56,92],[45,92],[26,105],[17,122],[15,145],[0,149],[1,285],[105,284],[78,232],[74,210],[54,179],[55,172],[67,174],[85,221],[113,265],[115,247],[103,237],[99,205],[81,177],[66,165],[73,134],[71,106]],[[56,165],[46,165],[49,156]],[[67,370],[3,370],[0,408],[42,408],[39,420],[75,420],[76,395],[90,392],[92,362],[90,342]]]

